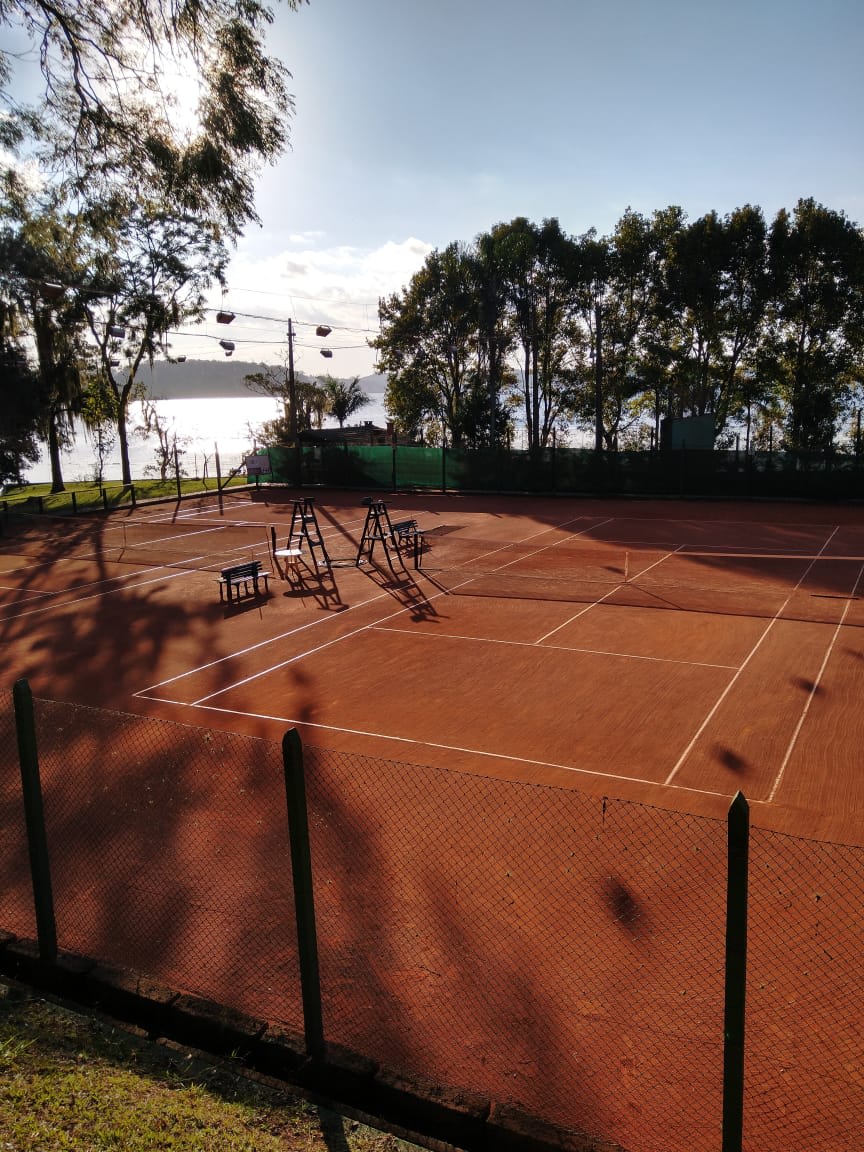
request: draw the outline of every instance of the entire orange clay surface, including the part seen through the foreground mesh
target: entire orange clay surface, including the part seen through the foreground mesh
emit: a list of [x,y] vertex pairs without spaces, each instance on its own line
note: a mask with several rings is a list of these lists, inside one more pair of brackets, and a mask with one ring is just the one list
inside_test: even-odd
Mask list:
[[[410,547],[359,555],[363,494],[320,492],[331,564],[304,550],[289,573],[273,538],[281,551],[294,495],[10,521],[7,684],[271,741],[296,726],[308,746],[374,758],[312,772],[314,810],[329,813],[316,825],[328,1036],[629,1149],[717,1146],[717,818],[743,790],[766,835],[808,838],[753,841],[748,1147],[854,1147],[859,881],[843,846],[862,842],[864,810],[858,510],[392,495],[391,521],[423,535],[415,567]],[[220,570],[253,559],[267,594],[220,600]],[[190,780],[210,782],[175,808],[170,733],[139,780],[121,779],[113,738],[94,741],[94,796],[75,793],[62,756],[51,775],[58,805],[70,791],[70,842],[104,839],[116,888],[82,895],[70,857],[75,947],[119,963],[128,948],[137,965],[150,946],[147,971],[172,986],[194,971],[194,991],[291,1020],[289,896],[270,874],[285,855],[276,778],[245,823],[207,799],[219,773]],[[464,775],[448,789],[440,768]],[[532,785],[554,788],[526,804]],[[164,797],[162,819],[144,809],[120,867],[111,828],[85,826],[78,805],[142,789]],[[177,821],[203,827],[209,803],[213,835],[195,840]],[[181,861],[199,887],[167,917],[166,862]],[[142,940],[152,923],[160,934]],[[283,980],[262,986],[256,948]]]

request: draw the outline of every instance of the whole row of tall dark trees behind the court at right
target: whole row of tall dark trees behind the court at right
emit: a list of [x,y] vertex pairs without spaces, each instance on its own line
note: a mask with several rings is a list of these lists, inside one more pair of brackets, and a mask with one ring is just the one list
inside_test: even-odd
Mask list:
[[689,416],[825,449],[863,374],[864,234],[813,200],[771,227],[628,209],[606,237],[520,217],[432,252],[379,318],[388,411],[430,440],[501,444],[509,406],[535,453],[573,423],[614,450]]

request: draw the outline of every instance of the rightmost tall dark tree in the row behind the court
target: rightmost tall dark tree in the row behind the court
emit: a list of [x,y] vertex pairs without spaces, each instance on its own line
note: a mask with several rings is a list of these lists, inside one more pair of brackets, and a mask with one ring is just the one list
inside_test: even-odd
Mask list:
[[788,404],[789,447],[828,450],[864,348],[864,234],[812,199],[778,213],[759,371]]

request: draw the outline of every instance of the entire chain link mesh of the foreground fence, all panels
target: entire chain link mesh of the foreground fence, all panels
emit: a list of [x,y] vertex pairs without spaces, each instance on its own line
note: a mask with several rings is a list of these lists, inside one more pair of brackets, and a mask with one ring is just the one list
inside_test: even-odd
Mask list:
[[[35,705],[58,943],[303,1030],[282,751]],[[727,828],[306,749],[327,1044],[628,1152],[721,1146]],[[0,927],[35,934],[10,707]],[[744,1147],[861,1147],[862,850],[753,829]]]

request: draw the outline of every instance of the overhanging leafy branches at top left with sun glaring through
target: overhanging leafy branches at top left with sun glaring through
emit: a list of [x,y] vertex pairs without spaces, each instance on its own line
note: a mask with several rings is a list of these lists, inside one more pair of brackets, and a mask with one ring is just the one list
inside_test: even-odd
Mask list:
[[[2,58],[6,139],[48,124],[43,139],[78,189],[156,189],[236,235],[257,219],[256,165],[286,146],[293,108],[289,74],[265,51],[272,20],[260,0],[0,0],[0,25],[29,37],[44,81],[43,107],[17,107]],[[195,109],[172,71],[197,84]]]

